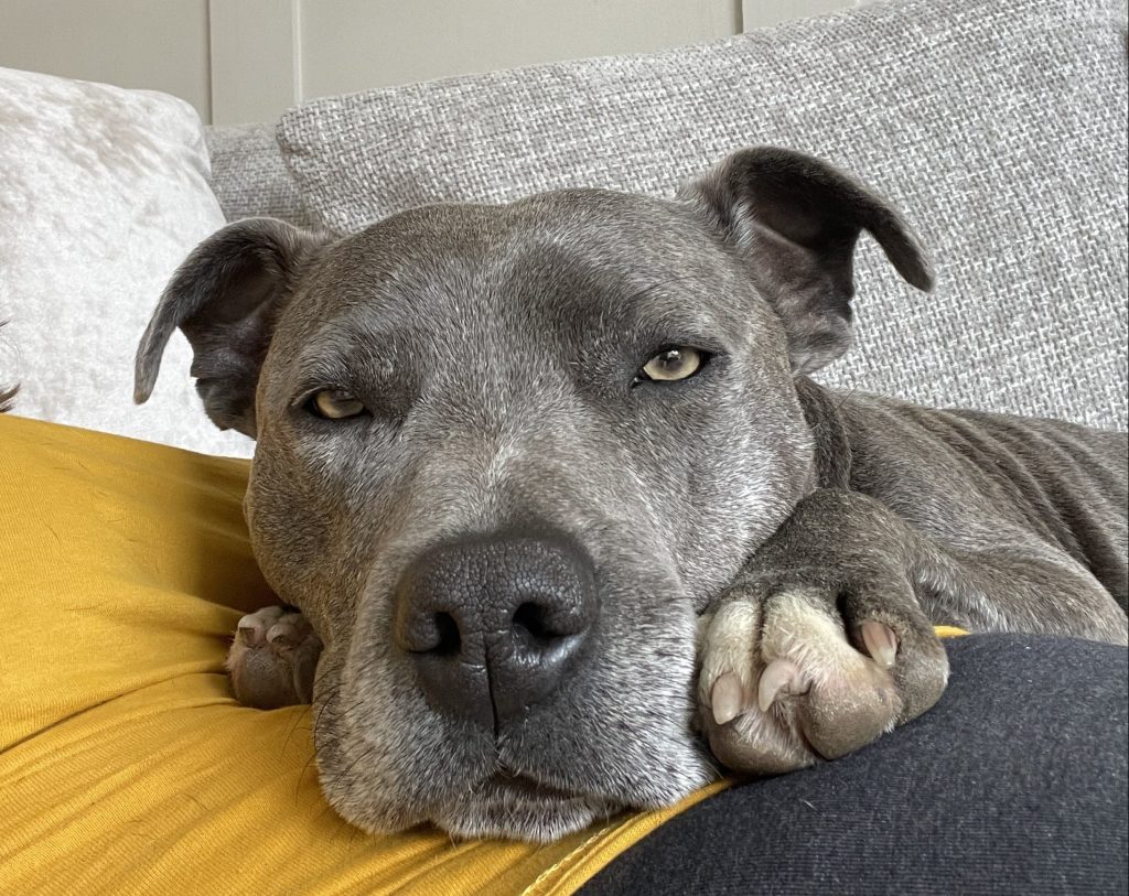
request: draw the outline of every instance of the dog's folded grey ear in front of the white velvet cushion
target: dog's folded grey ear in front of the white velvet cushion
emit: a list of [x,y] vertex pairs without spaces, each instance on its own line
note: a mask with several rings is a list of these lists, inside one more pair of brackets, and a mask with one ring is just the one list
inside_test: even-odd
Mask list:
[[191,374],[220,429],[255,437],[255,387],[298,272],[329,239],[271,218],[248,218],[208,237],[173,274],[138,346],[133,401],[152,394],[160,358],[180,327]]

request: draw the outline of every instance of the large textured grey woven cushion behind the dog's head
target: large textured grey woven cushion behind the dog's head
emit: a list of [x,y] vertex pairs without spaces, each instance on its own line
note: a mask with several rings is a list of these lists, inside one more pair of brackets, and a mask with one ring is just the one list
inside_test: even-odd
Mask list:
[[844,387],[1123,429],[1120,0],[910,0],[648,56],[321,99],[278,134],[347,231],[441,200],[562,186],[669,194],[742,146],[802,149],[884,192],[931,248],[931,297],[867,241]]

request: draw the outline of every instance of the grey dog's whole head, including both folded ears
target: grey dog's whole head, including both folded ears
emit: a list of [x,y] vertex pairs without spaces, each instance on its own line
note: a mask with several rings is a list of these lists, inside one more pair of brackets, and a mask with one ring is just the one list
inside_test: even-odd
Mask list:
[[671,201],[256,219],[189,257],[138,398],[180,326],[211,419],[257,439],[247,520],[325,644],[345,818],[548,840],[714,775],[695,617],[812,487],[793,378],[847,348],[864,229],[928,287],[887,205],[774,149]]

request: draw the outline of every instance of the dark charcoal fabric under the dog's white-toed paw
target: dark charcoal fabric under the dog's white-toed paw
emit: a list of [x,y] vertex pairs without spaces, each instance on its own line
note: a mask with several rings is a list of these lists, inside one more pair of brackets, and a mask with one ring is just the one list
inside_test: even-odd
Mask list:
[[1025,635],[946,643],[948,691],[922,718],[699,803],[580,893],[1129,891],[1129,653]]

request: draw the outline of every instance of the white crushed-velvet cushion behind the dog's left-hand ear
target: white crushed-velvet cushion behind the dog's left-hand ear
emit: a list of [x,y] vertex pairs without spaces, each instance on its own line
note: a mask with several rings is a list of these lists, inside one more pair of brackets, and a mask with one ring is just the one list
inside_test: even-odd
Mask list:
[[165,282],[225,223],[183,100],[0,69],[0,383],[15,413],[199,451],[248,456],[219,432],[177,333],[149,404],[133,352]]

